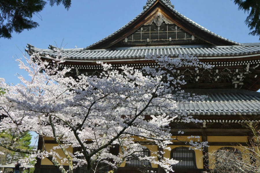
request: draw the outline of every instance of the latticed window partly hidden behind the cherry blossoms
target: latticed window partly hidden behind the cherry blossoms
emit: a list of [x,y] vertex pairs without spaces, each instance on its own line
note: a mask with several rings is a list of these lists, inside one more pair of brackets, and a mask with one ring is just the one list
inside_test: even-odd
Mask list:
[[[142,152],[142,157],[151,156],[149,150]],[[132,156],[129,163],[126,164],[127,167],[151,167],[151,163],[148,160],[140,160],[138,156]]]

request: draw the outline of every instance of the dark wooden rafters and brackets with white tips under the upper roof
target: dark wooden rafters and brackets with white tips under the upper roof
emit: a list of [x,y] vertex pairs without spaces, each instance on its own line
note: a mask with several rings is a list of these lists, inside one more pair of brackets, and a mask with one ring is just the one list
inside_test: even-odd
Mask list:
[[[44,57],[43,57],[44,58]],[[201,59],[204,62],[205,59]],[[224,59],[223,59],[224,60]],[[242,59],[243,60],[243,59]],[[144,66],[154,67],[153,61],[125,61],[125,62],[109,62],[113,69],[118,69],[122,65],[128,65],[136,69],[141,69]],[[258,59],[251,61],[219,61],[209,62],[215,67],[213,69],[197,69],[192,67],[181,67],[176,71],[177,76],[185,76],[187,84],[183,86],[185,89],[192,88],[235,88],[249,89],[257,91],[260,88],[260,61]],[[102,67],[96,62],[67,62],[61,64],[62,67],[71,68],[71,75],[77,76],[80,74],[91,75],[102,71]]]

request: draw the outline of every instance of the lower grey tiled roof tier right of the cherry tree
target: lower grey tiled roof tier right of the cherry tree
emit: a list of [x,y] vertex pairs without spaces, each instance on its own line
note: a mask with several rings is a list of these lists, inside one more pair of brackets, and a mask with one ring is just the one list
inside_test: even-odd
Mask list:
[[[260,93],[246,90],[204,91],[208,95],[204,101],[189,103],[177,102],[177,109],[188,115],[259,115]],[[146,113],[147,115],[149,113]]]

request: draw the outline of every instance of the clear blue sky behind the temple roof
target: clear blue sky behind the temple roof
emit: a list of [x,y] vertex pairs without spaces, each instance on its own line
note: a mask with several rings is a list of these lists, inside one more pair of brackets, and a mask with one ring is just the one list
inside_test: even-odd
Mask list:
[[[77,0],[69,11],[62,5],[50,7],[34,16],[39,27],[13,33],[12,39],[0,39],[0,78],[17,84],[18,69],[15,58],[22,57],[27,43],[38,48],[54,45],[74,48],[87,47],[112,34],[137,16],[147,0]],[[230,0],[171,1],[175,9],[208,30],[239,43],[256,43],[259,37],[249,36],[244,24],[247,14]],[[40,17],[39,17],[40,16]],[[42,20],[41,20],[42,18]],[[56,43],[55,43],[56,42]],[[14,57],[14,58],[13,58]]]

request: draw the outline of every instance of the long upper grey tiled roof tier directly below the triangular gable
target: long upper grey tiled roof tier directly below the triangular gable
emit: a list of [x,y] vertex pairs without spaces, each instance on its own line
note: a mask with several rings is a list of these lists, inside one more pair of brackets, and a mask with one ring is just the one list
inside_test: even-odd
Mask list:
[[[57,48],[50,46],[49,49],[39,49],[28,45],[29,52],[41,52],[56,56]],[[85,50],[81,49],[60,49],[61,56],[69,60],[112,60],[112,59],[134,59],[144,58],[147,54],[178,57],[179,54],[189,54],[199,57],[217,56],[239,56],[260,54],[260,44],[253,43],[252,46],[151,46],[151,47],[119,47],[115,49]]]

